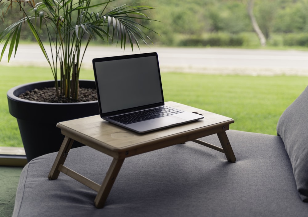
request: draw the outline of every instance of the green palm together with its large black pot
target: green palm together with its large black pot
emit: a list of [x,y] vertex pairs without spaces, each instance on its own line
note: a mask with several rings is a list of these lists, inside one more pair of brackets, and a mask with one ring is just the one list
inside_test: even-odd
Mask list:
[[[52,81],[22,85],[7,93],[10,114],[17,118],[28,161],[59,150],[63,136],[56,123],[98,114],[97,100],[79,102],[81,88],[95,88],[94,81],[79,81],[83,57],[92,39],[119,44],[121,49],[125,49],[126,43],[133,49],[134,45],[139,48],[139,40],[151,41],[144,29],[152,30],[143,23],[150,21],[145,12],[153,8],[136,4],[115,6],[115,2],[0,0],[2,20],[16,8],[23,15],[0,33],[3,44],[0,61],[6,51],[10,61],[17,52],[21,32],[29,31],[53,75]],[[24,29],[25,25],[27,29]],[[50,87],[55,91],[54,98],[65,98],[68,103],[36,102],[18,97],[23,92]],[[46,126],[44,122],[47,122]]]

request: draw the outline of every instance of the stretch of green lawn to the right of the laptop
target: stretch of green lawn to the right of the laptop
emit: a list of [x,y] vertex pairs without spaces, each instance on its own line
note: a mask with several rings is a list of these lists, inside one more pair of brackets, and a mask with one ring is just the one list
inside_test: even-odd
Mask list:
[[162,75],[165,100],[234,119],[230,129],[276,135],[282,112],[308,84],[297,76]]

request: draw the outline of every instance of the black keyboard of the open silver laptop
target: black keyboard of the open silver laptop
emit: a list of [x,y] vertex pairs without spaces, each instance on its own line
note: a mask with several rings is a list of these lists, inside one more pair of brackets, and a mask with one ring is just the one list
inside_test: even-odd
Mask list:
[[173,115],[177,113],[181,113],[183,111],[177,110],[175,108],[170,108],[167,106],[159,107],[159,108],[153,108],[148,109],[140,112],[134,112],[134,113],[128,113],[124,115],[118,115],[109,117],[110,119],[114,121],[118,121],[122,124],[132,124],[140,121],[146,121],[158,117],[164,117],[168,115]]

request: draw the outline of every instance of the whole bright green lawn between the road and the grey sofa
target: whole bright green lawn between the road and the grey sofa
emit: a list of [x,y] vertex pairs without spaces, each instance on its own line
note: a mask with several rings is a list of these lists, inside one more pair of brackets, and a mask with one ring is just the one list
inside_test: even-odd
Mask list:
[[[51,80],[49,68],[1,66],[0,146],[22,146],[17,121],[10,116],[6,92],[33,81]],[[276,135],[277,121],[308,84],[300,76],[222,76],[186,73],[161,75],[165,101],[176,101],[235,120],[230,129]],[[84,70],[81,79],[94,79]]]

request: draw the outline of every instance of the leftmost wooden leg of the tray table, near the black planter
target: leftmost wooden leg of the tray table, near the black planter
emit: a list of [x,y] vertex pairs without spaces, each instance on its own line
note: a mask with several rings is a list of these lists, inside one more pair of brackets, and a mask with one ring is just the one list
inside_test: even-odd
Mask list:
[[58,155],[55,159],[53,166],[49,172],[48,178],[49,180],[57,179],[60,174],[60,170],[58,170],[60,164],[64,164],[67,154],[73,145],[74,140],[69,137],[64,137]]

